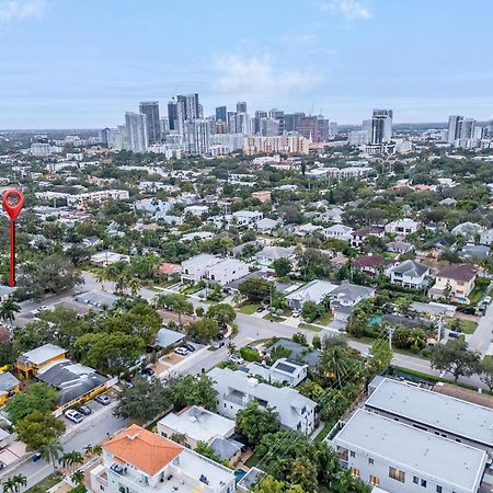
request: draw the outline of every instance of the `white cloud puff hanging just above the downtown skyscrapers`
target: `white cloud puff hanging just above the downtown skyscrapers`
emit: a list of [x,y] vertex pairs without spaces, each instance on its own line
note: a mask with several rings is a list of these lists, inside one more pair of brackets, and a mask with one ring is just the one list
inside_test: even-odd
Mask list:
[[214,66],[219,72],[214,89],[231,94],[298,93],[312,89],[321,79],[310,70],[277,69],[268,57],[245,58],[239,55],[225,55],[218,57]]

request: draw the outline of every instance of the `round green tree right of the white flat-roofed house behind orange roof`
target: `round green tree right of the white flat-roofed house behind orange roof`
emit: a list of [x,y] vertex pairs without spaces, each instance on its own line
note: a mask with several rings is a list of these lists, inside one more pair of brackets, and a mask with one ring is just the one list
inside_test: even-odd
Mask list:
[[259,445],[266,433],[277,432],[279,421],[277,414],[264,409],[256,401],[249,402],[237,413],[237,429],[242,433],[252,446]]

